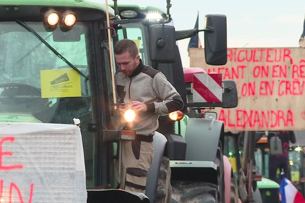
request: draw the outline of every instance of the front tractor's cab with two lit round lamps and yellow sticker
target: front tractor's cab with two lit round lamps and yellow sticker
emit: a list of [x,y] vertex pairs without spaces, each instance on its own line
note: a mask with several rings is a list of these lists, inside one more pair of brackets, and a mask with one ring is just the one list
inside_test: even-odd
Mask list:
[[100,145],[102,125],[93,126],[108,126],[111,115],[108,59],[100,48],[106,37],[99,34],[105,7],[2,1],[0,10],[0,122],[74,124],[79,118],[86,184],[101,184],[109,172],[98,163],[107,146]]

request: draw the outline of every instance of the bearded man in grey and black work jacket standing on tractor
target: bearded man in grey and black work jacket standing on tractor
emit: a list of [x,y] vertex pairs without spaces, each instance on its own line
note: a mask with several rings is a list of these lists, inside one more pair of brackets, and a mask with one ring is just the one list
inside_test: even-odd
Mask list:
[[145,193],[146,175],[154,157],[153,136],[159,126],[158,117],[180,110],[184,104],[163,73],[142,63],[135,42],[127,39],[117,42],[114,55],[119,67],[115,83],[120,112],[127,109],[136,112],[136,119],[129,124],[136,131],[136,140],[121,143],[121,187]]

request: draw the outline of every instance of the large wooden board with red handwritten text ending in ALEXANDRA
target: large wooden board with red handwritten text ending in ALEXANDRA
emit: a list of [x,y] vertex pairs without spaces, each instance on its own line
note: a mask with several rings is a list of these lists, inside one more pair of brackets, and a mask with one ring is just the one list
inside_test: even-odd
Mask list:
[[305,129],[305,49],[228,49],[226,65],[207,65],[204,50],[189,50],[190,65],[234,80],[238,106],[218,110],[226,130]]

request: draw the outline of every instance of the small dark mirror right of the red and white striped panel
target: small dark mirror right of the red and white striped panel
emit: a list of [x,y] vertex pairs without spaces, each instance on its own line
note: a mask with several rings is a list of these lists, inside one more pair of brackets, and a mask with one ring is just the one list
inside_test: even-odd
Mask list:
[[234,108],[238,105],[238,96],[236,84],[233,80],[224,80],[222,81],[224,85],[224,92],[222,98],[222,108]]

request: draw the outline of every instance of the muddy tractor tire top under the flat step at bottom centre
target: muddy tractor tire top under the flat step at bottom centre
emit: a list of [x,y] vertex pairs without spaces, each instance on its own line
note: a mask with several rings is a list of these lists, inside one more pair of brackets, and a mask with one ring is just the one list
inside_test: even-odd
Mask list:
[[217,185],[205,182],[172,182],[172,203],[216,203]]

